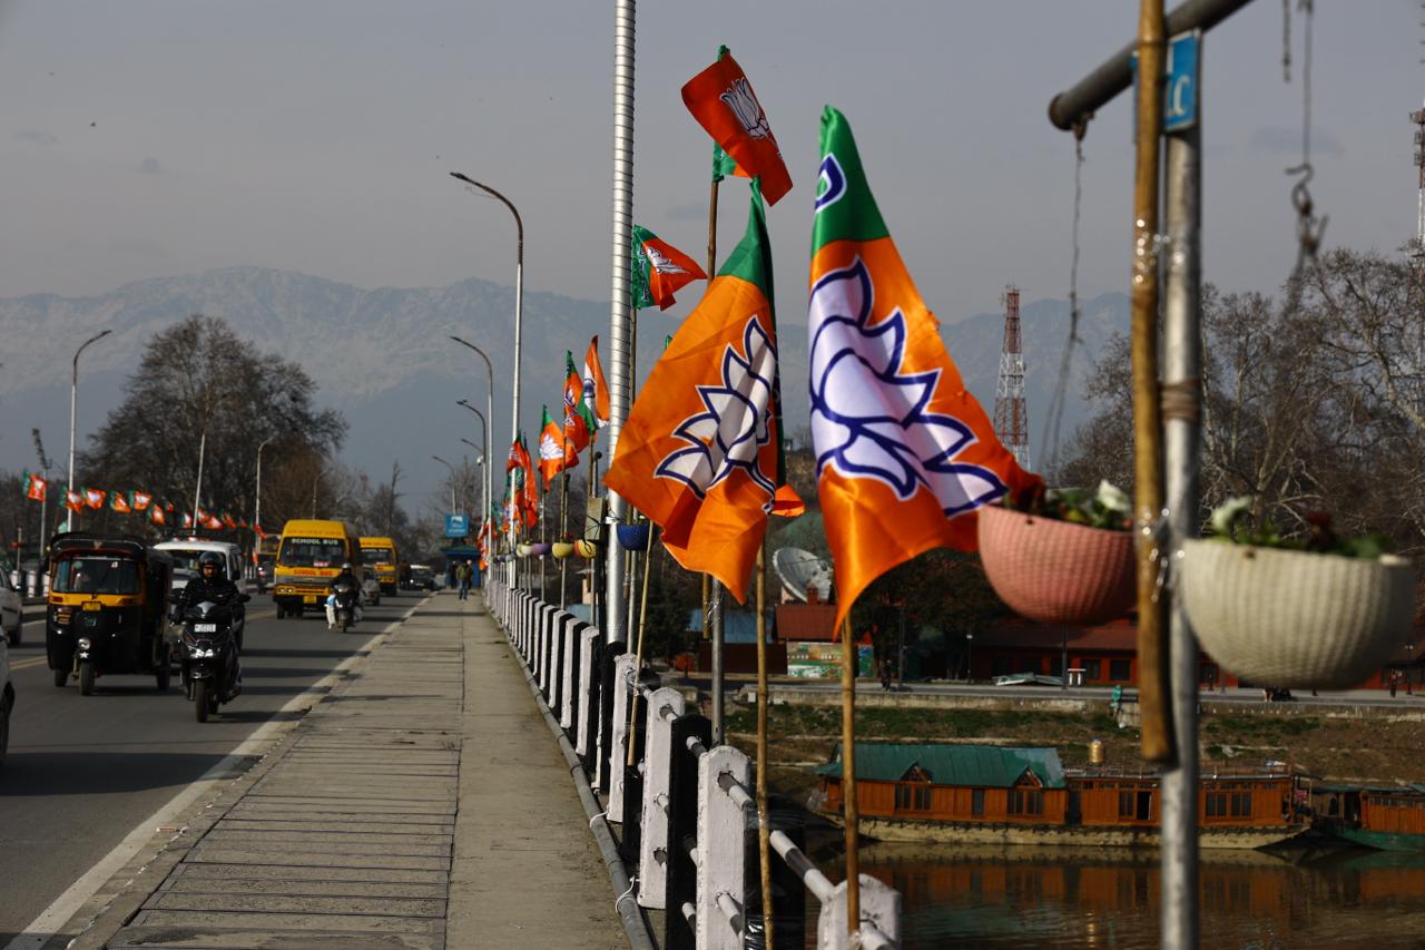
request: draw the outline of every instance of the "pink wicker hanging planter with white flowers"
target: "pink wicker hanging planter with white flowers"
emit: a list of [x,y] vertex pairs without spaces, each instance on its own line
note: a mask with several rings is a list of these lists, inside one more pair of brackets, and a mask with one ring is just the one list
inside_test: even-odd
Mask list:
[[1083,626],[1133,609],[1131,532],[986,505],[979,546],[995,593],[1030,620]]

